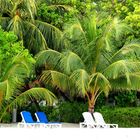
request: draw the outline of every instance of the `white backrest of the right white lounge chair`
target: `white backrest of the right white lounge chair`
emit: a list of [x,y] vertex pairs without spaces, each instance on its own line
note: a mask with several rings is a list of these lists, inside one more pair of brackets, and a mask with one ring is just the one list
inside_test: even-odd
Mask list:
[[94,119],[95,119],[95,122],[96,122],[96,123],[98,123],[98,124],[106,124],[106,123],[105,123],[105,120],[104,120],[104,118],[103,118],[103,116],[102,116],[101,113],[99,113],[99,112],[94,112],[94,113],[93,113],[93,116],[94,116]]

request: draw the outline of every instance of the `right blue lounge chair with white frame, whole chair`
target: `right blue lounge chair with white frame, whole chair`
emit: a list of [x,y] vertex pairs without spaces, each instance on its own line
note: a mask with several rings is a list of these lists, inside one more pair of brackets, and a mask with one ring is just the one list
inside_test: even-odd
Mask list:
[[60,122],[49,122],[44,112],[36,112],[35,116],[37,118],[37,122],[45,123],[45,127],[50,128],[62,127],[62,124]]

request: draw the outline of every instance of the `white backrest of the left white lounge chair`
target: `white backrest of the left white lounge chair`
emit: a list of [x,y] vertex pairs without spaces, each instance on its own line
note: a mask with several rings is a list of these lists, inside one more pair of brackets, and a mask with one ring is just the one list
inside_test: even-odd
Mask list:
[[95,121],[91,115],[90,112],[83,112],[82,113],[83,117],[84,117],[84,121],[87,123],[87,124],[95,124]]

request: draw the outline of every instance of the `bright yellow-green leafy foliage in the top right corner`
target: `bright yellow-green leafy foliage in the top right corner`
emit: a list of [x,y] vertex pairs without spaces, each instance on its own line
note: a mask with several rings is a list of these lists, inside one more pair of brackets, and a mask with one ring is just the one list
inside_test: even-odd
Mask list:
[[[113,0],[97,1],[98,10],[107,12],[108,15],[117,16],[133,29],[130,39],[140,39],[140,4],[139,0]],[[129,35],[128,35],[129,36]]]

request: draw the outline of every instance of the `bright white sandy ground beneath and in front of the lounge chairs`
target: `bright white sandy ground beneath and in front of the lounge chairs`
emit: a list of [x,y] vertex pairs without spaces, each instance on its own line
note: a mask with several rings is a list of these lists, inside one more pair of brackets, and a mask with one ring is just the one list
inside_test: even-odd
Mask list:
[[140,128],[82,129],[79,124],[62,123],[62,129],[19,129],[17,123],[1,123],[0,137],[4,140],[139,140]]

